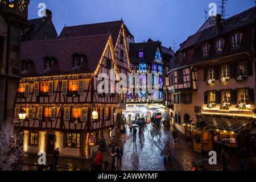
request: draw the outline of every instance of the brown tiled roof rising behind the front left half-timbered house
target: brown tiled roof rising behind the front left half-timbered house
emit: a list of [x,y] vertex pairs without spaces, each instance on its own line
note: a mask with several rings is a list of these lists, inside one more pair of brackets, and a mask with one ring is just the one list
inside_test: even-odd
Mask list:
[[[104,23],[94,23],[94,24],[84,24],[80,26],[64,27],[60,33],[60,38],[67,38],[72,36],[86,36],[86,35],[98,35],[98,34],[112,34],[113,43],[117,42],[118,34],[123,21],[115,22],[104,22]],[[130,36],[130,31],[125,26],[126,34]]]

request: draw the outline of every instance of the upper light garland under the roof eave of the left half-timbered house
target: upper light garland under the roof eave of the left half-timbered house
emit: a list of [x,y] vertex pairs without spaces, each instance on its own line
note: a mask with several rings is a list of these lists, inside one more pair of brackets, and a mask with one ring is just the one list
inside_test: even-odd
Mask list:
[[92,78],[93,73],[76,74],[76,75],[57,75],[57,76],[42,76],[42,77],[27,77],[22,78],[20,83],[33,83],[38,81],[53,81],[53,80],[79,80]]

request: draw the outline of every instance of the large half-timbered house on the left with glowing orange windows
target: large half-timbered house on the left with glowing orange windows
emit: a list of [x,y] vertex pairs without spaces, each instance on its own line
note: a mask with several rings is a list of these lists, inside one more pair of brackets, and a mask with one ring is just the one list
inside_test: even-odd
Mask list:
[[[64,36],[61,32],[57,39],[22,43],[23,79],[16,94],[14,121],[24,131],[24,151],[52,154],[59,147],[61,155],[87,156],[88,137],[93,134],[97,145],[100,130],[108,142],[125,95],[100,94],[97,85],[98,75],[106,73],[110,78],[112,69],[116,79],[109,82],[109,90],[113,91],[118,73],[130,71],[127,39],[132,35],[127,37],[127,28],[122,22],[119,25],[117,34],[112,30]],[[18,122],[21,109],[27,117]],[[93,110],[98,119],[92,118]]]

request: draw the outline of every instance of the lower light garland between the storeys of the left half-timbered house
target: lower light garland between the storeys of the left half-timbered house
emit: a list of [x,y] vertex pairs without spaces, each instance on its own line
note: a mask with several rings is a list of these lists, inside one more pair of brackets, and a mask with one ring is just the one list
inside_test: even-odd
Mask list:
[[[83,108],[83,107],[92,107],[93,104],[16,104],[15,107],[24,107],[24,108],[31,108],[31,107],[76,107],[76,108]],[[96,107],[118,107],[118,104],[95,104]]]

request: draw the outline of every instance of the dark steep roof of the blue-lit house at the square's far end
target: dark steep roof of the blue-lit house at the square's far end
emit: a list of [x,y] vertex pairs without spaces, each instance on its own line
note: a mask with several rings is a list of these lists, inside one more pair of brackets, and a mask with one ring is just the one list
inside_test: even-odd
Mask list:
[[[160,47],[160,42],[144,42],[144,43],[130,43],[130,60],[131,63],[152,63],[152,61],[155,59],[155,52],[156,49]],[[143,51],[144,52],[144,58],[139,59],[138,52]]]

